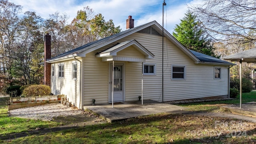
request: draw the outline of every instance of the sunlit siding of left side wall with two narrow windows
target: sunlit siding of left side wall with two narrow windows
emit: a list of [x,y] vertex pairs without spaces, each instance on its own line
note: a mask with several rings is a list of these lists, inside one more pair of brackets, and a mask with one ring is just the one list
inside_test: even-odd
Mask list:
[[[72,78],[72,64],[77,63],[77,80]],[[58,66],[64,64],[64,78],[58,77]],[[54,76],[51,77],[51,91],[53,94],[64,94],[74,106],[82,108],[80,104],[80,62],[76,60],[54,63]]]

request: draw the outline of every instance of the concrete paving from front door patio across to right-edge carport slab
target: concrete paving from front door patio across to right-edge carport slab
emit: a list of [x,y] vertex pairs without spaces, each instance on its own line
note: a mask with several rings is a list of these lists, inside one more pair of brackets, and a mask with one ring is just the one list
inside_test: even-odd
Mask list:
[[[116,122],[120,120],[126,120],[128,118],[135,118],[138,116],[146,116],[150,114],[158,113],[182,113],[182,114],[193,114],[193,115],[204,115],[204,116],[220,116],[220,117],[230,117],[237,118],[240,120],[248,120],[251,122],[256,122],[256,102],[248,102],[242,104],[242,109],[240,105],[228,105],[220,107],[223,110],[228,110],[234,112],[234,114],[227,113],[205,113],[205,112],[191,112],[186,111],[186,108],[181,106],[176,106],[173,104],[167,104],[162,102],[156,102],[152,100],[144,100],[144,104],[141,102],[119,102],[114,104],[99,104],[95,106],[84,106],[84,110],[88,110],[94,114],[101,116],[108,122]],[[247,116],[245,116],[247,115]],[[250,115],[250,116],[248,116]],[[255,116],[255,117],[254,117]]]

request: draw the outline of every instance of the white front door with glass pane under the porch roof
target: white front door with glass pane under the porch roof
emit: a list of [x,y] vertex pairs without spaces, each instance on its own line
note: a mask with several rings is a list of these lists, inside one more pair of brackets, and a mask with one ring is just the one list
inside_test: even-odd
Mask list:
[[[114,75],[113,75],[114,72]],[[123,64],[114,64],[111,65],[111,72],[110,72],[110,102],[112,102],[112,90],[114,94],[114,102],[122,102],[124,101],[124,65]],[[112,78],[114,76],[114,78]],[[113,85],[112,85],[113,81]],[[112,89],[113,86],[113,89]]]

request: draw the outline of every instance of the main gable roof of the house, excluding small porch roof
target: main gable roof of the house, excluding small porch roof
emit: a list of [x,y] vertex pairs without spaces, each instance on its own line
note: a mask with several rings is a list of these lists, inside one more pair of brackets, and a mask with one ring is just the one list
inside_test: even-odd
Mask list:
[[[118,34],[114,34],[112,36],[108,36],[106,38],[102,38],[100,40],[85,44],[83,46],[80,46],[74,50],[70,50],[68,52],[65,52],[63,54],[60,54],[58,56],[55,56],[51,58],[50,60],[47,60],[46,62],[54,62],[54,61],[59,61],[62,59],[67,59],[67,58],[73,58],[74,56],[80,56],[80,57],[85,57],[87,53],[92,52],[94,50],[97,50],[98,48],[101,48],[103,46],[106,46],[108,44],[111,44],[112,42],[115,42],[117,40],[120,40],[130,34],[133,34],[135,32],[138,32],[140,30],[143,30],[145,28],[148,28],[149,26],[153,27],[159,34],[162,33],[162,30],[164,30],[164,36],[168,40],[170,40],[174,45],[176,45],[182,52],[184,52],[188,57],[190,57],[194,63],[196,64],[221,64],[221,65],[233,65],[230,62],[225,62],[222,61],[218,58],[214,58],[212,56],[208,56],[205,54],[201,54],[199,52],[191,51],[186,49],[178,40],[176,40],[167,30],[162,29],[162,26],[158,24],[156,21],[148,22],[146,24],[143,24],[141,26],[137,26],[135,28],[131,28],[128,30],[125,30],[123,32],[120,32]],[[161,34],[162,35],[162,34]],[[123,43],[124,44],[124,43]],[[142,48],[143,49],[143,48]],[[218,59],[218,60],[217,60]]]

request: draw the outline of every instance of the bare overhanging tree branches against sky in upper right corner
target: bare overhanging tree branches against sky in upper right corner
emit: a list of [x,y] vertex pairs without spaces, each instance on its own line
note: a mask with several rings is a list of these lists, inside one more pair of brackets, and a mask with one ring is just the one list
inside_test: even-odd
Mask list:
[[255,0],[205,0],[204,4],[190,8],[215,40],[247,44],[256,42]]

